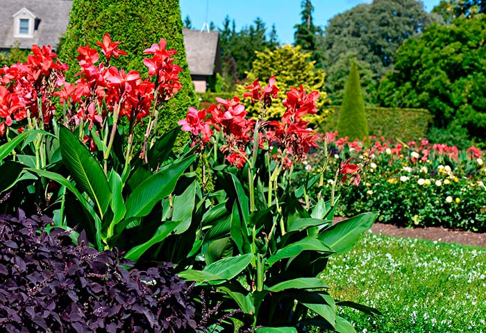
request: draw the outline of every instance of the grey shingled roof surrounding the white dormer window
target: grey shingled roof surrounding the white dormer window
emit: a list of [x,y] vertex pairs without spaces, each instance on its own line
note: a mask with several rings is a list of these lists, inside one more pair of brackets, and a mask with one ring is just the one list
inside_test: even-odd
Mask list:
[[[17,43],[20,49],[31,49],[33,44],[56,49],[67,31],[71,7],[70,0],[0,0],[0,49],[10,49]],[[40,20],[32,38],[14,37],[12,15],[22,8],[35,13]]]

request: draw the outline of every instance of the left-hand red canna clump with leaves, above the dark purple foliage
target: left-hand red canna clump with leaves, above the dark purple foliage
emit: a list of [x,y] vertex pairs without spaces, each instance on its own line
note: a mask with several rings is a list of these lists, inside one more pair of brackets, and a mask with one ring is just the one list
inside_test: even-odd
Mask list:
[[[90,46],[78,48],[75,83],[65,82],[67,67],[49,46],[34,46],[28,62],[1,69],[0,134],[6,144],[0,168],[8,169],[8,179],[0,191],[26,188],[24,203],[33,200],[53,214],[53,226],[84,229],[95,248],[129,250],[136,262],[170,232],[185,232],[196,204],[194,177],[183,176],[196,156],[172,153],[178,129],[157,141],[152,134],[159,110],[181,89],[181,67],[162,39],[144,51],[151,57],[144,60],[149,76],[142,80],[137,71],[110,65],[126,53],[108,33],[97,44],[103,60]],[[55,115],[56,107],[62,114]],[[135,126],[142,123],[145,135],[135,147]],[[161,200],[178,202],[178,196],[185,206],[168,205],[162,212]]]

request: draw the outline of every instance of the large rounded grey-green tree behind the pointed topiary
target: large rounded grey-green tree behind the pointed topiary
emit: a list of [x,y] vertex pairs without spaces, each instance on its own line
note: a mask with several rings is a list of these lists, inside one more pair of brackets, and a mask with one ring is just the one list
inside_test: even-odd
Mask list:
[[[374,0],[355,6],[330,19],[319,39],[323,68],[329,74],[344,74],[333,75],[332,79],[344,82],[347,71],[337,67],[343,67],[342,58],[349,58],[349,53],[353,53],[360,67],[371,70],[377,86],[380,78],[393,68],[399,46],[436,20],[440,20],[439,16],[428,14],[424,4],[417,0]],[[336,92],[342,96],[342,90],[329,92],[332,97]],[[365,97],[367,102],[374,99],[374,96]]]

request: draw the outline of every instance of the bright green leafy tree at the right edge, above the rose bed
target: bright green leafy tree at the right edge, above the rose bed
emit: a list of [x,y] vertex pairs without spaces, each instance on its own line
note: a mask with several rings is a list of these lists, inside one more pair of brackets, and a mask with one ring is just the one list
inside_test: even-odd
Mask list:
[[454,121],[471,137],[486,138],[486,15],[437,24],[407,40],[396,53],[394,71],[382,80],[384,106],[426,108],[435,126]]

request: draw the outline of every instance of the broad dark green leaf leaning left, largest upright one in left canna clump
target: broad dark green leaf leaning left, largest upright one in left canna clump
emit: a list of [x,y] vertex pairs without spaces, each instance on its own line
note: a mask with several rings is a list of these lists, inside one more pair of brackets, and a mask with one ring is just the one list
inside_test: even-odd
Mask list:
[[103,218],[111,202],[111,191],[99,162],[68,128],[59,128],[59,145],[62,162],[76,180],[76,185],[97,205]]

